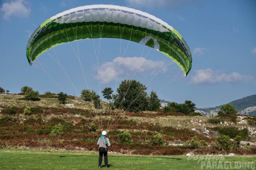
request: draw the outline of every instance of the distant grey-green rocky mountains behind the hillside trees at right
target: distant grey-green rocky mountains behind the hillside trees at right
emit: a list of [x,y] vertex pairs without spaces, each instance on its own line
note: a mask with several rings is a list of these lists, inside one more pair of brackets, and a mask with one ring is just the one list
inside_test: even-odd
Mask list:
[[[162,107],[169,103],[169,101],[163,99],[160,102],[162,103]],[[232,104],[237,109],[238,114],[240,115],[256,116],[256,94],[231,101],[230,104]],[[216,116],[218,115],[218,112],[220,111],[219,108],[221,106],[203,109],[196,108],[195,110],[204,116]]]

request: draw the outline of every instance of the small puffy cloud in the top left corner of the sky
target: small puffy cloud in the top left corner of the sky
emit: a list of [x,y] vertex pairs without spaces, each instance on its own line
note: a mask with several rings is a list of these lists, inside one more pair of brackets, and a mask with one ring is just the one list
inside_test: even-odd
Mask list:
[[23,0],[16,0],[10,3],[4,3],[1,12],[4,12],[5,19],[9,19],[11,16],[27,17],[31,10],[24,5]]

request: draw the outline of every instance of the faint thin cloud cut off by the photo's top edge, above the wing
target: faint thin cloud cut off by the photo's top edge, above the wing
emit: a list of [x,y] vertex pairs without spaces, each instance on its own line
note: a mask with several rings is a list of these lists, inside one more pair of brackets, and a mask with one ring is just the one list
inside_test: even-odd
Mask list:
[[161,8],[176,8],[191,2],[196,2],[195,0],[126,0],[130,6],[143,6],[143,7],[161,7]]

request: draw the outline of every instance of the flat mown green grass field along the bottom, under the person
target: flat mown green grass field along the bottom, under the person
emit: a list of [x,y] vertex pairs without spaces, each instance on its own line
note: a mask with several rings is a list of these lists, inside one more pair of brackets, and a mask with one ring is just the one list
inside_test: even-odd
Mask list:
[[[255,156],[136,156],[109,154],[109,168],[122,170],[255,169]],[[104,162],[104,161],[102,161]],[[104,163],[101,165],[103,168]],[[98,153],[0,149],[0,169],[99,169]]]

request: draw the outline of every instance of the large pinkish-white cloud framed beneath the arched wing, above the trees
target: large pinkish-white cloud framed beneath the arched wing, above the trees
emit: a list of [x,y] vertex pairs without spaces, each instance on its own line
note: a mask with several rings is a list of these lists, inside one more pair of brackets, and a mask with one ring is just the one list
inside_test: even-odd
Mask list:
[[[122,75],[124,71],[132,74],[137,71],[138,74],[152,76],[159,71],[166,72],[167,69],[163,61],[147,60],[143,57],[117,57],[112,62],[105,62],[99,66],[99,79],[101,83],[108,83],[116,80],[117,74]],[[98,76],[95,76],[95,79],[98,79]]]

